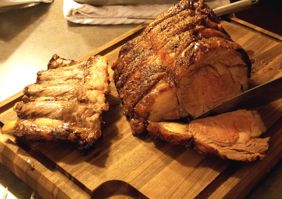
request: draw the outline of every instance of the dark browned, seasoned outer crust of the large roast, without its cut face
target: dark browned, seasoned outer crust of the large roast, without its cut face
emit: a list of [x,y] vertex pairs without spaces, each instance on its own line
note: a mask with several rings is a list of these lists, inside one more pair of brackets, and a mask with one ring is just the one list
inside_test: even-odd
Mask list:
[[[232,41],[211,8],[202,0],[181,0],[144,28],[140,36],[124,44],[112,69],[124,112],[129,120],[134,115],[132,123],[135,125],[132,126],[138,126],[138,121],[147,119],[149,112],[142,110],[137,113],[135,107],[143,104],[139,104],[140,101],[152,102],[148,99],[149,92],[159,81],[167,79],[170,85],[173,84],[171,86],[178,87],[189,66],[197,64],[214,49],[241,54],[245,67],[248,67],[247,76],[250,75],[251,62],[246,52]],[[151,73],[152,77],[148,77],[148,71],[155,74]]]

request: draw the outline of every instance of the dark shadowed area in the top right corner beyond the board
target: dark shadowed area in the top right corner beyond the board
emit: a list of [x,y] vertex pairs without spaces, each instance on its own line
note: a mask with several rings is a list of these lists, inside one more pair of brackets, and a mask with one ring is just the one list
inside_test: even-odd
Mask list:
[[282,36],[282,0],[259,0],[250,9],[235,13],[235,17]]

